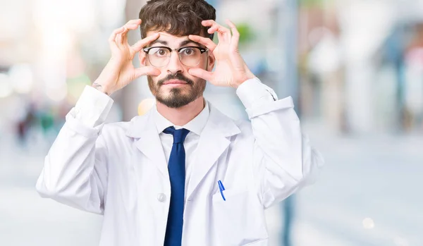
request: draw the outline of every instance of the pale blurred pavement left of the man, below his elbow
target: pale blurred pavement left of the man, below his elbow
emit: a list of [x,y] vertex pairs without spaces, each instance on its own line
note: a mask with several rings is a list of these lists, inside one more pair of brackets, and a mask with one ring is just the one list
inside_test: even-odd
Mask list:
[[37,194],[48,145],[37,134],[25,148],[10,135],[0,138],[0,245],[98,245],[101,216]]

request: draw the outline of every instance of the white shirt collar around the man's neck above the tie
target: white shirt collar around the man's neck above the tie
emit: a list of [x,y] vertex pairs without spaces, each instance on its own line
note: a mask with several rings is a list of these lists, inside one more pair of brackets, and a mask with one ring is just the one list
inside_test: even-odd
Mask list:
[[190,130],[190,132],[200,135],[204,126],[206,126],[207,120],[209,118],[210,109],[209,103],[204,100],[204,109],[193,118],[190,122],[186,123],[185,125],[173,125],[167,118],[164,118],[159,111],[157,111],[156,106],[153,109],[153,116],[154,116],[154,123],[157,126],[157,133],[163,132],[164,129],[168,128],[169,126],[174,126],[176,129],[185,128]]

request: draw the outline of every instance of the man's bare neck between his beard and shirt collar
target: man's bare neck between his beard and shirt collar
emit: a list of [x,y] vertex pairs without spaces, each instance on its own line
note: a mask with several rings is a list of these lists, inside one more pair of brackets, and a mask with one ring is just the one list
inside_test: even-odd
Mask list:
[[192,121],[204,109],[204,97],[198,97],[189,104],[177,109],[169,108],[168,106],[157,102],[157,111],[168,121],[174,125],[185,125]]

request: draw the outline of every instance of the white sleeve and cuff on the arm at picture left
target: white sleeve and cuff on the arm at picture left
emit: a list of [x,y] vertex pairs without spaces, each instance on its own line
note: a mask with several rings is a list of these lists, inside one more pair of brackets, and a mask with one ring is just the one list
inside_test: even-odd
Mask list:
[[82,92],[44,159],[36,185],[42,197],[103,213],[109,151],[101,131],[112,103],[92,87]]

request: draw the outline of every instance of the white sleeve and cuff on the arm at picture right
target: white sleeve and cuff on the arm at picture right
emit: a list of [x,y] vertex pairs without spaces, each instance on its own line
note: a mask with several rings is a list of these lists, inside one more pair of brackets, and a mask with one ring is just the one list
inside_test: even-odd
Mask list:
[[257,78],[237,89],[252,124],[257,191],[264,207],[280,202],[312,183],[324,164],[321,154],[303,135],[293,99],[278,100]]

